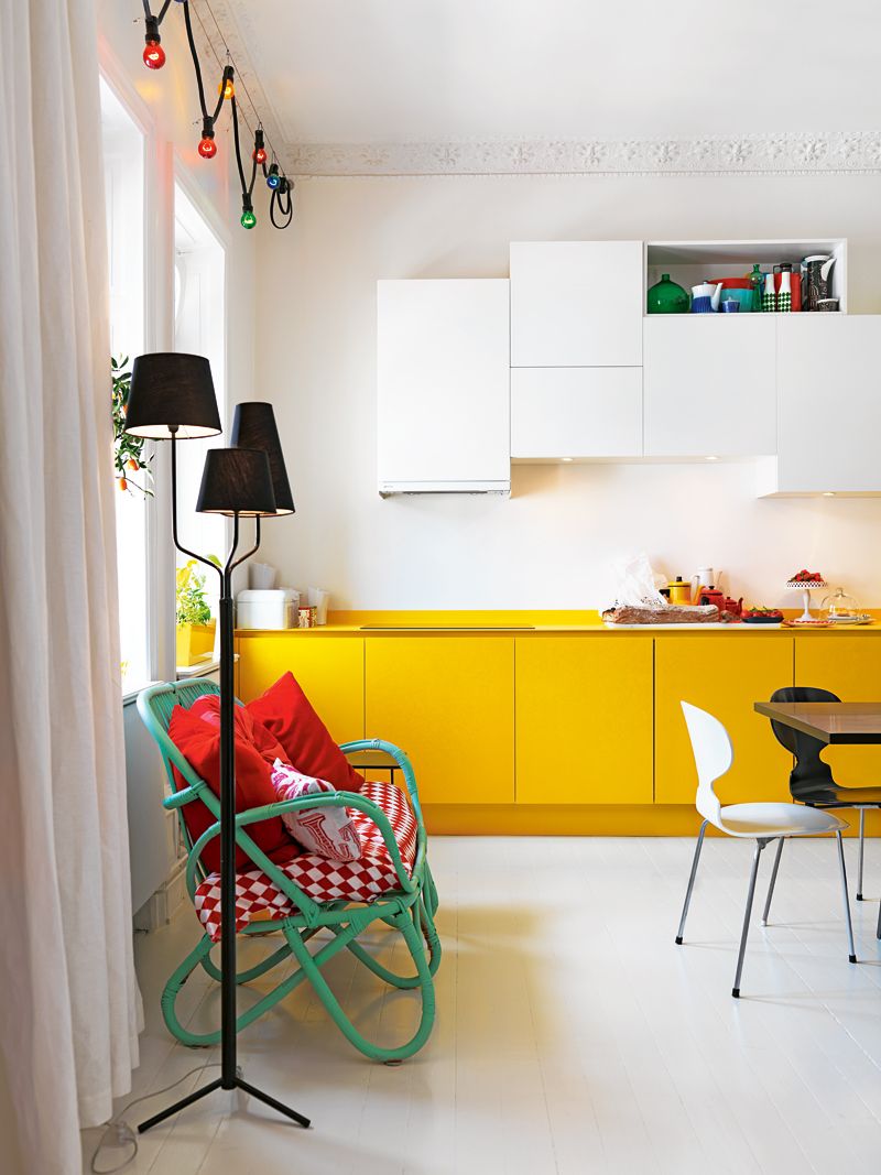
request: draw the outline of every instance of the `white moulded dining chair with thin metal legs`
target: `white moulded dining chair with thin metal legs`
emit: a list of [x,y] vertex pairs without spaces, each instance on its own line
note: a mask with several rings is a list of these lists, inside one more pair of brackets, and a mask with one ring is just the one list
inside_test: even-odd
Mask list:
[[685,721],[688,726],[688,737],[692,740],[694,752],[694,764],[698,768],[698,794],[695,807],[704,817],[704,822],[698,833],[698,844],[694,848],[694,860],[692,872],[688,878],[688,888],[685,891],[685,904],[682,916],[679,919],[679,933],[677,944],[681,945],[685,933],[685,920],[688,916],[688,905],[694,889],[694,878],[698,873],[698,861],[700,850],[704,845],[704,833],[707,825],[712,824],[727,837],[738,837],[744,840],[755,841],[753,853],[753,867],[749,873],[749,888],[746,895],[746,911],[744,912],[744,929],[740,935],[740,951],[738,953],[738,969],[734,975],[734,987],[731,994],[738,999],[740,996],[740,976],[744,971],[744,954],[746,952],[746,939],[749,933],[749,919],[753,911],[753,898],[755,895],[755,879],[759,874],[759,858],[762,850],[772,842],[779,841],[774,867],[771,873],[768,895],[765,901],[765,913],[762,925],[767,925],[771,899],[774,893],[774,882],[780,866],[780,851],[784,840],[789,837],[821,837],[825,833],[834,832],[839,846],[839,864],[841,866],[841,885],[845,897],[845,916],[847,919],[847,939],[849,946],[849,961],[856,962],[854,953],[854,932],[850,924],[850,902],[847,897],[847,871],[845,868],[845,848],[841,842],[841,831],[847,828],[843,820],[832,815],[829,812],[819,808],[803,807],[800,804],[729,804],[722,807],[719,797],[715,794],[713,785],[731,768],[734,761],[734,750],[731,745],[728,732],[706,710],[699,710],[687,701],[681,703]]

